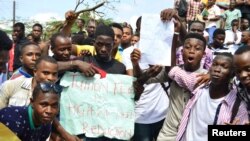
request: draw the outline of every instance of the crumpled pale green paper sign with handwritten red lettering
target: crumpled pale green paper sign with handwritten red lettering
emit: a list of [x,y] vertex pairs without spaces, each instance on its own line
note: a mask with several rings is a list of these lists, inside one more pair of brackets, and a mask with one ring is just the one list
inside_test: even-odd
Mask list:
[[134,134],[134,78],[108,74],[86,78],[66,73],[61,85],[60,122],[72,134],[122,140]]

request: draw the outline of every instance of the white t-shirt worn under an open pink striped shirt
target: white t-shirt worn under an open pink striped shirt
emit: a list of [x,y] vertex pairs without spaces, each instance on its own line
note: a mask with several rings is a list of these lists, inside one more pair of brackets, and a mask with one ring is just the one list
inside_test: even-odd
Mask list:
[[206,141],[208,125],[213,125],[218,105],[224,97],[211,99],[209,88],[204,88],[190,112],[189,122],[182,141]]

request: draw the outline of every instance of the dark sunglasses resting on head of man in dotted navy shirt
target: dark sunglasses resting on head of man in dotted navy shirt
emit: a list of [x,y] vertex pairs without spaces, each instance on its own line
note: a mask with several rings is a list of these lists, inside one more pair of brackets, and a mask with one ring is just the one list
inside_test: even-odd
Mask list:
[[60,94],[63,90],[63,87],[61,85],[57,85],[57,84],[53,84],[49,82],[40,83],[39,85],[43,92],[54,91],[57,94]]

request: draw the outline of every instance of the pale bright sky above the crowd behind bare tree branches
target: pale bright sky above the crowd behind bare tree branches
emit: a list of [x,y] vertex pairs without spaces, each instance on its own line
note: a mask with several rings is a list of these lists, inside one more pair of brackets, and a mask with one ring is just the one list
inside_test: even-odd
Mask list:
[[[91,0],[85,0],[91,1]],[[142,13],[160,13],[164,8],[172,7],[174,0],[120,0],[113,3],[116,11],[99,9],[116,22],[134,22]],[[41,22],[51,19],[63,19],[67,10],[75,7],[76,0],[16,0],[16,16],[21,19],[35,19]],[[13,0],[0,0],[0,20],[12,19]],[[81,9],[79,7],[78,9]],[[21,21],[23,22],[23,21]]]

